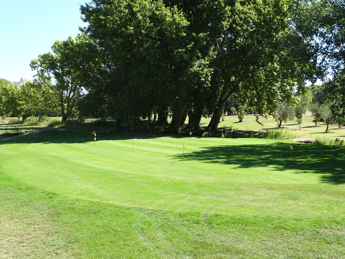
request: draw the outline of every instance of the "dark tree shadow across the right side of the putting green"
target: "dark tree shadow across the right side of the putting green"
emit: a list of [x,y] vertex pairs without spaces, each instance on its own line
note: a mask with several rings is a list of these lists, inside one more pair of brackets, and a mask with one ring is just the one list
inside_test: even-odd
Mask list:
[[[276,170],[320,174],[323,182],[345,183],[345,148],[293,144],[290,162],[289,143],[226,145],[186,153],[185,160],[238,165],[239,168],[274,166]],[[181,159],[180,155],[174,155]]]

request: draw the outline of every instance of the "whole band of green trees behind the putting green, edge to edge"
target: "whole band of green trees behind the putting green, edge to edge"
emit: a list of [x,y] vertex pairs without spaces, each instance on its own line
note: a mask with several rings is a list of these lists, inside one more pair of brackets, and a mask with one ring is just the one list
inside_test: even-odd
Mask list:
[[31,61],[32,83],[8,94],[1,81],[0,115],[58,110],[61,123],[91,115],[132,128],[147,119],[172,134],[187,115],[194,129],[208,116],[211,131],[231,107],[278,118],[280,103],[292,107],[308,95],[306,80],[332,71],[313,96],[327,103],[329,118],[344,117],[344,7],[334,0],[93,0],[80,8],[88,24],[80,35]]

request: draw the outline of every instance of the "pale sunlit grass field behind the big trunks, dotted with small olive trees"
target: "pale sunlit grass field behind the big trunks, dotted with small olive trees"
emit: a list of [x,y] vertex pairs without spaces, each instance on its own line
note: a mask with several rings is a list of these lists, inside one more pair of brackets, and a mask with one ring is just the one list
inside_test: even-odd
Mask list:
[[[262,129],[271,129],[277,127],[277,122],[274,120],[272,116],[269,116],[267,119],[264,117],[260,117],[259,122],[263,123],[263,125],[258,124],[255,119],[255,115],[249,114],[245,115],[243,122],[238,122],[237,115],[228,115],[224,117],[224,121],[219,123],[219,127],[234,127],[238,130],[242,131],[259,131]],[[188,118],[187,118],[188,119]],[[296,118],[295,118],[296,119]],[[338,125],[331,124],[329,125],[328,132],[325,133],[327,125],[325,122],[318,122],[317,126],[315,127],[315,122],[313,122],[314,118],[311,116],[310,112],[307,112],[303,118],[303,122],[300,125],[296,124],[295,121],[288,121],[287,123],[282,123],[282,127],[284,130],[288,131],[292,138],[304,138],[304,139],[315,139],[317,137],[325,137],[325,138],[341,138],[345,139],[345,127],[342,126],[339,128]],[[206,127],[209,123],[209,118],[202,118],[201,119],[201,126]],[[188,123],[188,121],[186,122]]]

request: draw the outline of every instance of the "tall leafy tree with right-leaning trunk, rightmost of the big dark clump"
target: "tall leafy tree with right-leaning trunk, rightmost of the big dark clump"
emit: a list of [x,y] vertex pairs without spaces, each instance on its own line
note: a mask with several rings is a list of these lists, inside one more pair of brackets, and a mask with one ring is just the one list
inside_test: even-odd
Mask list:
[[294,89],[303,92],[305,79],[316,70],[317,55],[292,23],[297,2],[235,1],[233,7],[225,36],[217,39],[214,63],[222,84],[207,127],[211,130],[230,95],[241,95],[259,114],[273,114],[283,100],[295,103]]

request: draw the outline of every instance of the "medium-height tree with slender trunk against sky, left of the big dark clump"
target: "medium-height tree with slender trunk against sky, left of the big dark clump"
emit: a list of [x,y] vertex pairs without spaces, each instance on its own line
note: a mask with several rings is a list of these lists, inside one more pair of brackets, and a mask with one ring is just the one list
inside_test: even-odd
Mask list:
[[[65,123],[72,113],[77,101],[83,95],[83,86],[80,84],[80,73],[85,62],[85,40],[69,37],[65,41],[55,41],[52,53],[48,52],[31,60],[32,70],[36,70],[39,84],[48,87],[59,100],[61,123]],[[55,84],[51,83],[52,77]]]

